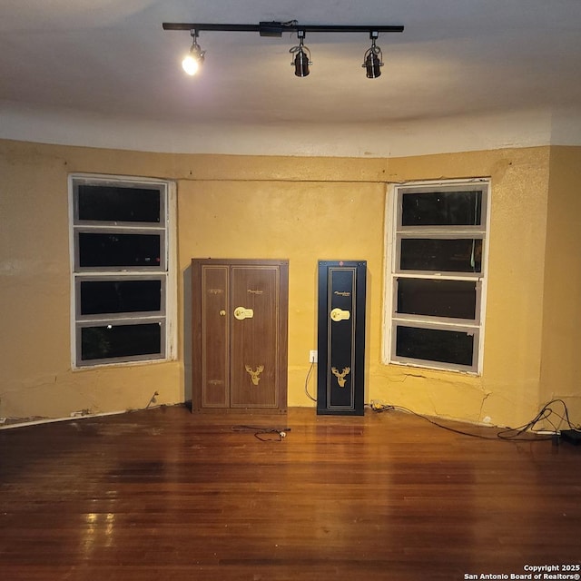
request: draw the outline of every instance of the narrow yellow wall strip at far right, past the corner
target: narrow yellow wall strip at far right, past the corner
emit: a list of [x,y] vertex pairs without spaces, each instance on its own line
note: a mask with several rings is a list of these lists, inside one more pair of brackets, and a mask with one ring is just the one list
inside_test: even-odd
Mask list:
[[[581,147],[553,147],[547,215],[541,399],[581,418]],[[561,408],[556,405],[555,409]]]

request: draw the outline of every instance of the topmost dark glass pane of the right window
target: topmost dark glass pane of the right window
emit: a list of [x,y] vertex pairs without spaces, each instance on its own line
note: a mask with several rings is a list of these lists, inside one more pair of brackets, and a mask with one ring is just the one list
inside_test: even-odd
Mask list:
[[402,226],[474,226],[482,220],[482,192],[402,195]]

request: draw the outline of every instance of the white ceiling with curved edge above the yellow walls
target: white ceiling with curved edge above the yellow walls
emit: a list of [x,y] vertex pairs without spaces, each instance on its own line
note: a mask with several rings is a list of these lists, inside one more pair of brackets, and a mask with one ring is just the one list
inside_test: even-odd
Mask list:
[[[581,0],[1,0],[0,15],[0,137],[330,155],[581,144]],[[189,32],[162,30],[270,20],[405,30],[379,36],[374,80],[366,33],[307,34],[299,78],[294,35],[201,32],[188,77]]]

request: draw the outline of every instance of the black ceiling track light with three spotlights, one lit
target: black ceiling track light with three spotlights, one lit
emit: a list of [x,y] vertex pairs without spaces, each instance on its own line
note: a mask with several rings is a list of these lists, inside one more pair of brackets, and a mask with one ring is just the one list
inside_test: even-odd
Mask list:
[[[261,36],[282,36],[283,32],[296,32],[300,38],[300,44],[291,48],[294,54],[291,64],[297,76],[307,76],[310,63],[310,50],[303,45],[306,33],[369,33],[372,44],[365,53],[363,66],[367,69],[369,79],[379,77],[383,66],[381,62],[382,54],[379,46],[375,45],[379,33],[401,33],[401,25],[299,25],[296,20],[290,22],[261,22],[258,25],[209,25],[193,23],[169,23],[162,24],[163,30],[189,30],[193,37],[190,54],[183,60],[182,66],[186,73],[195,74],[198,67],[203,62],[204,51],[196,43],[196,37],[201,30],[206,31],[227,31],[227,32],[258,32]],[[186,64],[187,61],[187,64]],[[187,68],[186,68],[187,66]],[[192,72],[191,72],[192,71]]]

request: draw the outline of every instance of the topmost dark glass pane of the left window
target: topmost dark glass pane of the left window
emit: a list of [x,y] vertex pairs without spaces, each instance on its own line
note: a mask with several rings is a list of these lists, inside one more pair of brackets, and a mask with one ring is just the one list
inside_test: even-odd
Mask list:
[[159,190],[79,185],[79,220],[160,222]]

